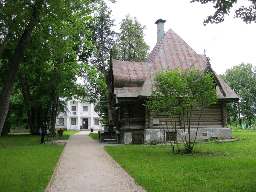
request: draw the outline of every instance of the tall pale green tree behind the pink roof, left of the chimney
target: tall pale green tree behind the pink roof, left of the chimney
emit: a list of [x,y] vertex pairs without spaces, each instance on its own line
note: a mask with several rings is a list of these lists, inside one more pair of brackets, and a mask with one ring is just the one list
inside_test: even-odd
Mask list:
[[127,14],[120,25],[120,33],[117,35],[116,44],[113,47],[113,57],[123,61],[144,62],[148,56],[149,46],[144,41],[145,34],[137,18],[131,18]]

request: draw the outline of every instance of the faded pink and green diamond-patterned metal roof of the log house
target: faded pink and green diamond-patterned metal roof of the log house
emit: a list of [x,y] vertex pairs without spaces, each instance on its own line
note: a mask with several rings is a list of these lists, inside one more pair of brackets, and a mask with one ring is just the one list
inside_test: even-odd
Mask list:
[[[158,71],[191,67],[206,68],[206,56],[198,55],[172,29],[157,43],[145,62],[130,62],[113,59],[114,93],[117,97],[138,97],[151,94],[154,75]],[[215,73],[216,74],[216,73]],[[217,74],[226,97],[217,88],[220,99],[238,98],[236,93]]]

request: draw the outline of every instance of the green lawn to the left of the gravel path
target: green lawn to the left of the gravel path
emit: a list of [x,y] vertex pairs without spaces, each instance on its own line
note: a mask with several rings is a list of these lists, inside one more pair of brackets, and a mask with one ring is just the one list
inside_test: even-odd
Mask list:
[[1,191],[45,191],[65,144],[40,144],[40,138],[20,134],[0,137]]

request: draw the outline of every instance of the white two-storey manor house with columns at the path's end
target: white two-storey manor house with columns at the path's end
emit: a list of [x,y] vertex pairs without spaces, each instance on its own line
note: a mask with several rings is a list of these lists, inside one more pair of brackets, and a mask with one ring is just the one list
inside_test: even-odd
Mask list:
[[[74,101],[74,103],[73,103]],[[94,112],[93,103],[81,103],[78,100],[65,101],[68,111],[61,113],[56,122],[56,130],[94,130],[104,129],[100,116]]]

